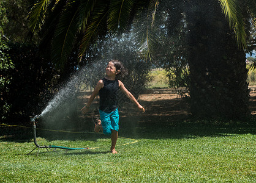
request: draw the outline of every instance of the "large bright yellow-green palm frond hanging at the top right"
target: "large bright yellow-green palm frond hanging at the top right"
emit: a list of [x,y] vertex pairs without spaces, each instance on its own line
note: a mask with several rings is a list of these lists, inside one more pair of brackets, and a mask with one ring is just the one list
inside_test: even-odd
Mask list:
[[225,16],[228,18],[230,27],[234,30],[236,34],[236,40],[239,48],[246,49],[247,41],[246,41],[246,23],[244,21],[244,17],[242,15],[242,10],[237,4],[236,0],[218,0],[222,11]]

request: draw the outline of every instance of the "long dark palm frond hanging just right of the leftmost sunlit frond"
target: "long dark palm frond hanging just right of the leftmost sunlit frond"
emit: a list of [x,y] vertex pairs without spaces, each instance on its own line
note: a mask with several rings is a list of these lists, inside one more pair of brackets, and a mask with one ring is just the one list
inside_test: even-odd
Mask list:
[[53,61],[62,66],[66,63],[78,32],[78,1],[69,0],[62,10],[51,49]]

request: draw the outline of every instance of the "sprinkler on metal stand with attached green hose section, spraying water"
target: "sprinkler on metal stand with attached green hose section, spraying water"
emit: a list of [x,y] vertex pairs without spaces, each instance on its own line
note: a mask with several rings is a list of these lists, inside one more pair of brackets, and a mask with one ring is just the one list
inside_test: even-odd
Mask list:
[[[40,118],[41,116],[42,116],[42,113],[40,115],[36,115],[35,117],[30,118],[30,121],[33,122],[34,144],[36,145],[36,148],[38,148],[37,156],[39,154],[40,149],[47,149],[47,151],[48,151],[48,148],[49,148],[49,149],[51,149],[52,151],[54,151],[56,153],[58,153],[58,152],[55,151],[55,149],[66,149],[67,151],[68,150],[77,150],[77,149],[89,149],[89,148],[67,148],[67,147],[63,147],[63,146],[52,146],[52,145],[48,145],[48,146],[47,145],[43,145],[43,146],[38,145],[37,140],[36,140],[36,120],[38,118]],[[32,151],[34,151],[36,148],[32,149]],[[30,151],[28,154],[30,154],[32,151]]]

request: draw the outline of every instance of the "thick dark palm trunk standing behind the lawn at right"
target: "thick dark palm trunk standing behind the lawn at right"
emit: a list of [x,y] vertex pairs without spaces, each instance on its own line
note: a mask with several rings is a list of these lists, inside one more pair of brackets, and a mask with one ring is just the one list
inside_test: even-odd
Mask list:
[[196,118],[243,120],[249,115],[246,55],[216,0],[191,1],[190,110]]

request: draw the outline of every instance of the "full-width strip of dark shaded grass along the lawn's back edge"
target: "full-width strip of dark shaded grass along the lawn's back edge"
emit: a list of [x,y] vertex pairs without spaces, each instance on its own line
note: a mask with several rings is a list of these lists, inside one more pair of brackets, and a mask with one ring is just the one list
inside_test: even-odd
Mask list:
[[[140,116],[127,116],[120,119],[119,136],[135,139],[179,139],[222,137],[232,134],[256,134],[255,119],[256,115],[253,115],[251,120],[247,122],[218,124],[217,121],[209,123],[208,121],[190,121],[187,118],[183,121],[172,121],[169,116],[151,116],[150,120]],[[1,142],[32,142],[34,137],[32,129],[23,129],[22,127],[0,127],[0,134]],[[94,132],[68,133],[37,130],[36,135],[37,137],[45,138],[48,142],[54,140],[97,142],[100,138],[110,138],[104,134],[96,134]],[[40,145],[40,142],[38,143]]]

